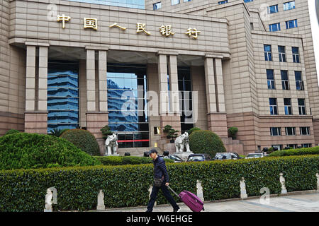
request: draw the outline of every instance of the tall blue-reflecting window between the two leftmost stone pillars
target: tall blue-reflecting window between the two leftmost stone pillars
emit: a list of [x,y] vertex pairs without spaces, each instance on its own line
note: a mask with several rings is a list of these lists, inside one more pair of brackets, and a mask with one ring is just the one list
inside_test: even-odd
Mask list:
[[49,61],[47,65],[47,132],[79,127],[79,63]]

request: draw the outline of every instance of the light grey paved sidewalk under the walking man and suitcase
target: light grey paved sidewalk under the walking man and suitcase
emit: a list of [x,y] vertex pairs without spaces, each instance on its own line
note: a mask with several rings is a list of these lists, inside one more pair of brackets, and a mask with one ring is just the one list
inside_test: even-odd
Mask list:
[[[191,210],[179,203],[181,212]],[[301,191],[286,196],[272,195],[269,203],[262,203],[259,197],[245,200],[235,199],[204,203],[205,212],[319,212],[319,192]],[[146,206],[132,208],[113,208],[103,212],[145,212]],[[94,211],[94,210],[91,210]],[[96,210],[95,210],[96,211]],[[154,212],[172,212],[172,206],[155,206]],[[99,211],[100,212],[100,211]]]

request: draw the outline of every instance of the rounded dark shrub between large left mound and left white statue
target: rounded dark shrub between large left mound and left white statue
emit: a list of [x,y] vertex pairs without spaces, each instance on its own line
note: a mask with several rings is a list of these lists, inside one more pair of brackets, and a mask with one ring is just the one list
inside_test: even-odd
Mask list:
[[94,135],[85,129],[69,129],[62,133],[60,138],[65,138],[89,155],[100,155],[99,143]]

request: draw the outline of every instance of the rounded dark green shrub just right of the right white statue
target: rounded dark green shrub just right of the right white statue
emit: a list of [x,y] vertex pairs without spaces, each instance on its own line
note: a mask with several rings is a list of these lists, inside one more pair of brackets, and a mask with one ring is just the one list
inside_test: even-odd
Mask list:
[[194,131],[189,136],[189,148],[193,153],[208,153],[211,157],[215,157],[216,153],[224,153],[226,148],[223,141],[208,130]]

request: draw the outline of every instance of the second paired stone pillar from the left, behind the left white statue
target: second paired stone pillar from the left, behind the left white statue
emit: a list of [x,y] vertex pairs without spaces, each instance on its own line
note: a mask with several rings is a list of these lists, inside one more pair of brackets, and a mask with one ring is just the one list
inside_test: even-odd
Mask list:
[[[95,48],[86,48],[86,92],[87,112],[86,129],[93,133],[99,143],[100,154],[103,155],[104,139],[101,133],[103,126],[108,125],[108,102],[107,102],[107,49],[99,50],[98,69],[95,69]],[[95,75],[98,72],[99,100],[96,101]],[[96,106],[98,103],[99,106]],[[96,109],[97,108],[97,109]]]

